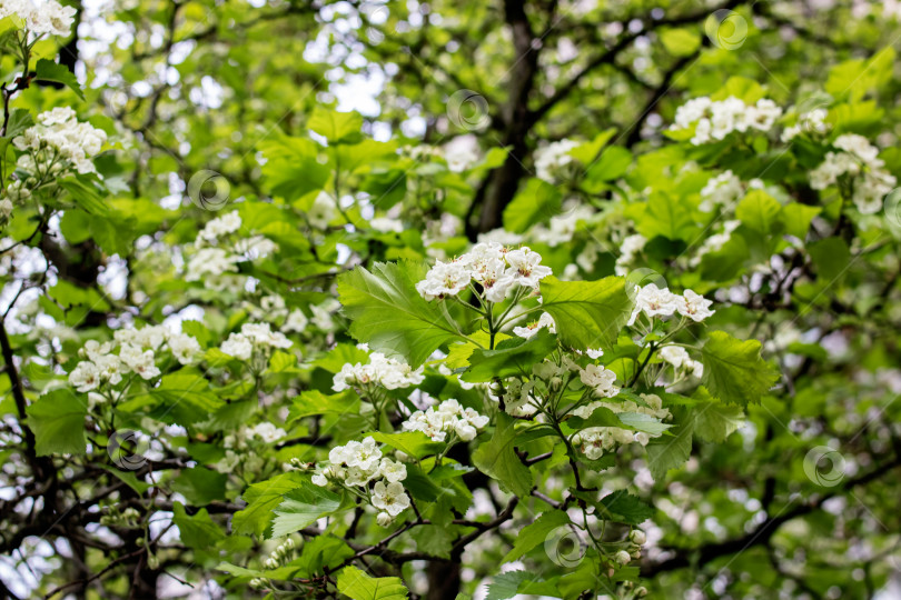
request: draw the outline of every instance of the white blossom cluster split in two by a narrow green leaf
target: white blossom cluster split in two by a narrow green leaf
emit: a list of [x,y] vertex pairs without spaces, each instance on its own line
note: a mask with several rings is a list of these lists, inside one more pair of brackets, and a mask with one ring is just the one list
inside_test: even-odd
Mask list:
[[[653,393],[643,393],[641,399],[647,406],[640,406],[632,400],[624,400],[622,402],[592,402],[580,407],[573,411],[576,417],[587,419],[596,409],[604,407],[614,413],[621,412],[637,412],[640,414],[648,414],[655,419],[665,420],[670,419],[672,414],[669,409],[663,408],[663,400]],[[591,460],[597,460],[610,452],[617,446],[626,443],[638,442],[642,446],[647,446],[652,436],[644,431],[630,431],[620,427],[590,427],[583,429],[573,436],[573,444],[577,446],[582,452]]]

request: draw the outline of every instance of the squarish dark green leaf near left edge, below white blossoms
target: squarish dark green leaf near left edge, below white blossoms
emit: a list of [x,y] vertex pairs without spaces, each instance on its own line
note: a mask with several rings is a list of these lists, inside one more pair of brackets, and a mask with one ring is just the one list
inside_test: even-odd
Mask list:
[[39,457],[85,453],[88,404],[70,389],[59,388],[41,396],[26,409],[26,414]]

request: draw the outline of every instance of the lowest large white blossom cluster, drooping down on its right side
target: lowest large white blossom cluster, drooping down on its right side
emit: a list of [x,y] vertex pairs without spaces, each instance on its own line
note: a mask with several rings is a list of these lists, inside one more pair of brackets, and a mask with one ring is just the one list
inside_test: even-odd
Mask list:
[[[387,527],[409,508],[409,497],[400,483],[407,478],[403,462],[384,458],[382,449],[372,437],[362,442],[352,441],[337,446],[328,452],[328,462],[319,464],[313,476],[313,483],[320,487],[329,481],[347,487],[363,488],[369,502],[378,509],[376,521]],[[369,489],[369,483],[375,484]]]

